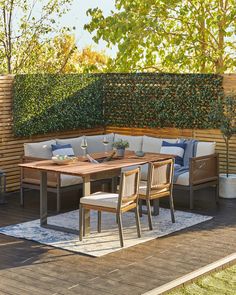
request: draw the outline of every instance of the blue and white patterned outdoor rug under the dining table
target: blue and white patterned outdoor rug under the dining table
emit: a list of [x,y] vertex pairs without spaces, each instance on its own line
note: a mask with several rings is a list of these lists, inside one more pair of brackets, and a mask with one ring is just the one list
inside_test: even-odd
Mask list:
[[[163,237],[170,233],[174,233],[212,219],[211,216],[204,216],[176,210],[176,223],[172,223],[170,210],[160,208],[160,214],[158,216],[153,216],[154,230],[150,231],[148,229],[148,219],[146,214],[143,214],[143,216],[140,218],[142,237],[138,238],[134,213],[129,212],[123,214],[122,216],[124,248]],[[48,223],[72,229],[78,229],[79,211],[76,210],[49,217]],[[91,233],[86,235],[82,242],[79,241],[79,237],[75,234],[63,233],[40,227],[39,219],[1,227],[0,233],[96,257],[122,249],[120,247],[118,226],[116,224],[115,214],[102,213],[102,232],[97,233],[96,229],[97,212],[91,211]]]

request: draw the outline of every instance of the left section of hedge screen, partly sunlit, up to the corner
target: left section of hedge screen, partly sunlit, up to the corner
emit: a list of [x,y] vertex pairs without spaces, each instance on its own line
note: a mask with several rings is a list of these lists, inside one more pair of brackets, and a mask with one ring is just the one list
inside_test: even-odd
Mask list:
[[17,75],[14,132],[44,134],[103,125],[99,75]]

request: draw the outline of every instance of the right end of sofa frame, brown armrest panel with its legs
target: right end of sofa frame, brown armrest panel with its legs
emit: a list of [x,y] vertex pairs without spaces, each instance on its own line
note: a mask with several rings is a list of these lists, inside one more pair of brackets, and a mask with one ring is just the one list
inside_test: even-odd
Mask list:
[[174,189],[188,190],[190,209],[194,208],[194,191],[215,186],[215,200],[219,203],[219,156],[218,154],[191,158],[189,185],[174,184]]

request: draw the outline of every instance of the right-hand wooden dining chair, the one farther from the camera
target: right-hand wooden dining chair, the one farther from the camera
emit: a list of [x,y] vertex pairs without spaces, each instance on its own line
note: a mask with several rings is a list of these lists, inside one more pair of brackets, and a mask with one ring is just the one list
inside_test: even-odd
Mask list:
[[173,172],[174,159],[149,163],[147,181],[142,181],[139,186],[140,215],[142,215],[142,200],[146,201],[148,211],[149,229],[153,229],[150,201],[169,197],[171,220],[175,222],[173,202]]

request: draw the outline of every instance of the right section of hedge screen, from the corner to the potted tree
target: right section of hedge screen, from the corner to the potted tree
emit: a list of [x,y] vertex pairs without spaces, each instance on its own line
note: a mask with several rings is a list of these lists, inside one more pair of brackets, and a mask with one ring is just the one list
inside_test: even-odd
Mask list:
[[107,125],[215,128],[212,103],[223,96],[222,77],[212,74],[108,74]]

